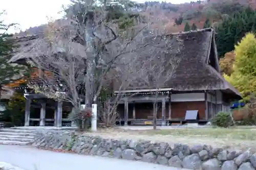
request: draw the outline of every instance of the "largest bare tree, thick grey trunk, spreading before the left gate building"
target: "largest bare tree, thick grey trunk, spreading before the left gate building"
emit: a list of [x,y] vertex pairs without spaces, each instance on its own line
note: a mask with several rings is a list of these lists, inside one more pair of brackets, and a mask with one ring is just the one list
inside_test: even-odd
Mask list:
[[26,56],[42,70],[30,87],[75,109],[83,99],[86,107],[97,103],[102,88],[109,85],[108,78],[119,74],[118,67],[127,67],[127,81],[120,89],[132,83],[133,53],[147,45],[140,38],[145,26],[137,18],[130,27],[120,29],[117,20],[106,21],[106,4],[96,7],[95,3],[76,1],[67,9],[67,18],[49,23],[42,37],[15,56]]

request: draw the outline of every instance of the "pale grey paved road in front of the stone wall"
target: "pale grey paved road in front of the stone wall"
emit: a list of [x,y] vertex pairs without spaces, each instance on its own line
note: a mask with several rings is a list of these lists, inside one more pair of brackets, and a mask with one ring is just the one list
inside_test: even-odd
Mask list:
[[187,170],[146,162],[57,153],[15,145],[0,145],[0,161],[8,162],[27,170]]

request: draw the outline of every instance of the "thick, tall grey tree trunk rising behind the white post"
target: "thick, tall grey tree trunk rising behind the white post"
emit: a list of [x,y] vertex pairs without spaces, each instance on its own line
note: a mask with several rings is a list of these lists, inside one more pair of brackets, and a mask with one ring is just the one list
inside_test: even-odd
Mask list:
[[94,40],[93,40],[93,13],[88,12],[86,22],[86,34],[84,39],[86,40],[87,47],[87,72],[86,72],[86,96],[84,99],[84,104],[86,108],[92,107],[93,104],[93,94],[94,94],[94,74],[95,74],[95,49],[94,49]]

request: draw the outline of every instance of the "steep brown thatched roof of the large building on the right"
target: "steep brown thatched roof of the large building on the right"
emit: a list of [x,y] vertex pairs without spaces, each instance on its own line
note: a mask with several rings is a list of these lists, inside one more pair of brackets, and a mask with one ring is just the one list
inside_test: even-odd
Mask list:
[[[172,78],[161,88],[174,91],[222,90],[234,95],[234,98],[241,99],[239,91],[220,74],[213,29],[183,32],[166,35],[165,37],[179,37],[183,40],[183,47],[180,48],[179,53],[175,51],[168,52],[168,56],[177,55],[180,62],[177,64]],[[179,43],[179,41],[176,41],[176,43]],[[156,87],[138,85],[125,91],[145,91],[154,88]]]

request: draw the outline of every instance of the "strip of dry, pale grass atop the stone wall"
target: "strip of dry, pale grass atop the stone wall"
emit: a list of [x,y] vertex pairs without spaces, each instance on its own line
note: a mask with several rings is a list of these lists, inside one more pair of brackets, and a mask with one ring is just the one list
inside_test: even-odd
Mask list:
[[123,130],[120,128],[102,129],[97,132],[87,132],[112,139],[143,139],[153,142],[183,143],[188,145],[207,144],[212,147],[227,147],[256,151],[256,128],[183,128],[162,130]]

